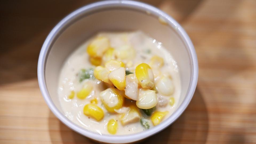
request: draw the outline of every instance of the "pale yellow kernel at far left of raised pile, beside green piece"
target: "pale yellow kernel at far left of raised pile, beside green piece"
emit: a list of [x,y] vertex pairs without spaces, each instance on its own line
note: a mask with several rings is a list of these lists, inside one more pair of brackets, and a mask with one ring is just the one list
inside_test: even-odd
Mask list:
[[94,77],[103,81],[103,82],[106,82],[106,83],[109,83],[109,84],[112,84],[111,81],[109,80],[109,78],[107,77],[107,75],[109,75],[109,71],[106,70],[103,66],[97,66],[95,67],[94,69]]

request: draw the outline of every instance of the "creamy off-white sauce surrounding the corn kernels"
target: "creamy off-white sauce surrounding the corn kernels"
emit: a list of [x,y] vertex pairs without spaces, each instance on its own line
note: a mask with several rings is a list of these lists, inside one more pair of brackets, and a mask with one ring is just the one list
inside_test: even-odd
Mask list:
[[[100,33],[98,35],[105,36],[110,39],[111,47],[117,49],[122,45],[131,45],[135,50],[135,57],[130,60],[123,61],[124,63],[133,63],[133,66],[129,67],[129,70],[134,72],[135,67],[140,63],[149,63],[150,58],[154,55],[158,55],[164,59],[164,66],[160,69],[153,69],[154,74],[170,74],[173,79],[173,84],[175,87],[174,94],[171,96],[163,96],[157,94],[158,97],[162,97],[168,100],[166,107],[157,106],[158,111],[169,111],[163,120],[168,118],[175,110],[176,105],[179,101],[179,96],[181,93],[180,85],[180,75],[178,71],[178,66],[171,54],[165,49],[161,42],[157,41],[154,38],[150,38],[141,31],[135,31],[130,33]],[[110,119],[118,119],[118,114],[109,114],[105,107],[102,105],[99,99],[99,93],[106,88],[103,86],[102,82],[97,79],[86,79],[83,82],[79,83],[77,78],[77,73],[81,69],[94,68],[95,66],[91,65],[89,62],[89,56],[86,53],[87,45],[90,40],[83,43],[77,48],[70,56],[67,58],[64,63],[60,77],[59,77],[59,88],[58,96],[61,103],[61,107],[65,116],[69,118],[72,122],[77,125],[84,127],[85,129],[97,132],[99,134],[109,134],[107,131],[107,122]],[[157,81],[159,77],[155,78]],[[78,99],[75,95],[73,99],[69,99],[68,95],[72,90],[78,92],[82,89],[83,84],[90,82],[93,84],[93,91],[85,99]],[[169,98],[174,97],[175,104],[174,106],[169,105]],[[101,121],[97,121],[93,118],[83,114],[83,107],[90,103],[94,98],[98,99],[98,106],[101,107],[105,113],[104,118]],[[133,101],[135,102],[135,101]],[[150,120],[150,117],[147,117],[142,113],[142,117],[145,117]],[[151,127],[153,127],[151,123]],[[138,133],[143,130],[146,130],[140,122],[131,123],[123,126],[121,122],[118,122],[117,135],[132,134]]]

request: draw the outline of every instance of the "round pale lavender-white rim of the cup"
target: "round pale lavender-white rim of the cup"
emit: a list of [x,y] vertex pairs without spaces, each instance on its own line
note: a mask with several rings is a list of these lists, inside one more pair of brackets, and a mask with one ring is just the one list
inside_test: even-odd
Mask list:
[[[46,83],[45,83],[45,66],[46,66],[47,57],[48,57],[49,51],[51,50],[51,46],[53,45],[55,40],[58,38],[59,34],[61,34],[61,31],[65,29],[65,27],[69,26],[70,23],[73,23],[75,19],[79,18],[81,15],[84,15],[85,13],[89,13],[91,11],[95,11],[103,8],[109,8],[109,7],[127,7],[134,10],[145,11],[147,13],[150,13],[153,16],[162,17],[169,26],[172,26],[174,30],[176,30],[175,32],[179,35],[179,37],[181,37],[184,44],[188,48],[187,49],[188,54],[190,54],[191,79],[190,79],[189,89],[187,90],[187,93],[186,93],[186,97],[184,98],[181,105],[177,108],[176,111],[174,111],[174,113],[169,118],[161,122],[159,125],[149,130],[135,133],[135,134],[128,134],[128,135],[99,134],[76,125],[75,123],[71,122],[68,118],[66,118],[65,115],[63,115],[54,105],[48,93]],[[37,73],[38,73],[38,83],[39,83],[39,87],[43,95],[43,98],[45,99],[48,107],[51,109],[53,114],[62,123],[64,123],[70,129],[88,138],[94,139],[96,141],[106,142],[106,143],[130,143],[130,142],[135,142],[135,141],[139,141],[141,139],[150,137],[151,135],[160,132],[161,130],[171,125],[177,118],[179,118],[179,116],[183,113],[183,111],[189,105],[193,97],[193,94],[195,92],[195,88],[198,80],[198,61],[197,61],[197,55],[196,55],[194,46],[189,36],[185,32],[185,30],[179,25],[179,23],[176,22],[168,14],[164,13],[162,10],[159,10],[154,6],[151,6],[143,2],[130,1],[130,0],[109,0],[109,1],[100,1],[100,2],[91,3],[89,5],[83,6],[73,11],[72,13],[67,15],[65,18],[63,18],[51,30],[45,42],[43,43],[42,49],[39,54]]]

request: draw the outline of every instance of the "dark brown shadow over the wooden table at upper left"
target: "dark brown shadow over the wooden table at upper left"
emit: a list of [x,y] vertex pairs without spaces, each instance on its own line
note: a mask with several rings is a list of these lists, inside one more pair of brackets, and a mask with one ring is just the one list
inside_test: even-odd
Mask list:
[[40,49],[51,29],[93,0],[5,1],[0,5],[0,85],[37,77]]

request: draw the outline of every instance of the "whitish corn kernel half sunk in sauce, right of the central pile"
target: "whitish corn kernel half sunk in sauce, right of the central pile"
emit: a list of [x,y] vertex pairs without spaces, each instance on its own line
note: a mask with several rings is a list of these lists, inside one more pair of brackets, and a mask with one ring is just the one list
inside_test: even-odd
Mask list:
[[162,76],[155,84],[159,93],[163,95],[171,95],[174,92],[173,81],[170,77]]

